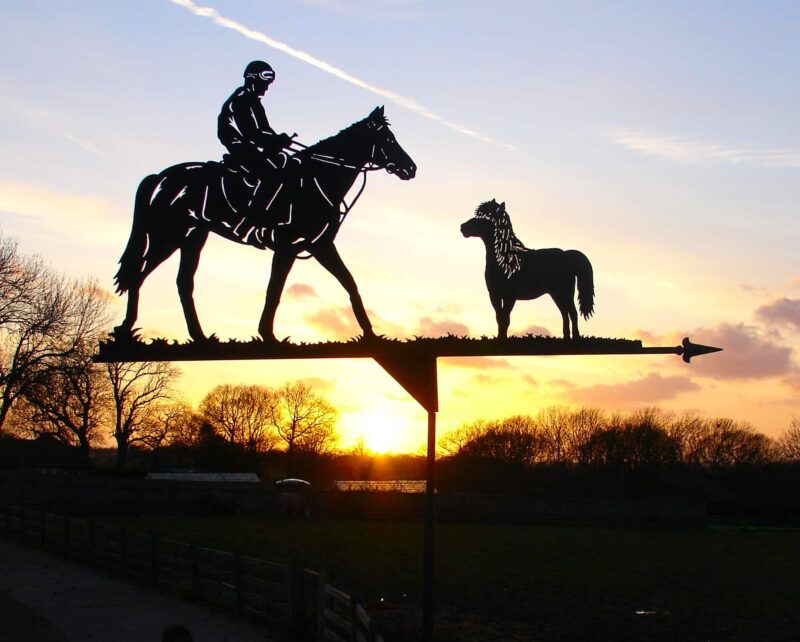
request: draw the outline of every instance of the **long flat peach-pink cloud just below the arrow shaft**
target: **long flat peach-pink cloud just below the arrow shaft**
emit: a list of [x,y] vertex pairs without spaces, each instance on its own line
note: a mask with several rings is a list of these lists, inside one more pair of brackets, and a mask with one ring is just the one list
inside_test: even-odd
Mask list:
[[567,392],[572,401],[589,405],[625,405],[630,403],[655,403],[674,399],[685,392],[700,390],[688,377],[663,377],[651,372],[642,379],[618,384],[597,384]]

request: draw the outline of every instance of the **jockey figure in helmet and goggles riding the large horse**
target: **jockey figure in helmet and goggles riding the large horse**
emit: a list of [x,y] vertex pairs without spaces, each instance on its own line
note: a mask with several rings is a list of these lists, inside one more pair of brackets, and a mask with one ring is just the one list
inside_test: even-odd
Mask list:
[[278,134],[270,127],[261,98],[275,80],[267,63],[254,60],[245,67],[244,84],[222,106],[217,118],[217,137],[230,154],[226,164],[243,168],[261,178],[286,165],[281,154],[294,136]]

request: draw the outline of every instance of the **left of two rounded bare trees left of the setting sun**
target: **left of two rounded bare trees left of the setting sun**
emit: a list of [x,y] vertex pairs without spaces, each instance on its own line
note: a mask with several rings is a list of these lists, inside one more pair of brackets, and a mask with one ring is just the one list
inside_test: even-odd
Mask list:
[[280,438],[273,426],[277,395],[265,386],[222,385],[200,402],[200,412],[226,441],[249,452],[270,452]]

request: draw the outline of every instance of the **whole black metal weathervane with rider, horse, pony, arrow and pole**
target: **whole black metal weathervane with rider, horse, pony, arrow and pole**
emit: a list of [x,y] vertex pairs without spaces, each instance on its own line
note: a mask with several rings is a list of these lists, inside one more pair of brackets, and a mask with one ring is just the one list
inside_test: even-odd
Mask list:
[[[446,336],[410,340],[376,337],[353,276],[334,241],[363,191],[367,174],[385,170],[402,180],[416,165],[389,129],[383,107],[338,134],[305,146],[295,135],[278,134],[261,104],[275,72],[266,63],[247,65],[244,84],[222,107],[218,136],[228,153],[222,162],[173,165],[145,177],[136,192],[133,226],[120,259],[117,292],[127,292],[125,319],[102,341],[97,361],[196,361],[231,359],[370,358],[377,361],[428,412],[424,540],[424,639],[433,635],[434,463],[438,405],[437,359],[464,356],[678,354],[685,362],[720,348],[692,343],[644,347],[631,339],[581,337],[580,313],[594,311],[589,260],[577,250],[531,250],[514,235],[505,203],[480,205],[461,226],[464,236],[486,245],[486,285],[495,309],[497,338]],[[361,177],[350,203],[345,197]],[[213,232],[274,252],[266,302],[258,323],[260,339],[220,341],[206,337],[194,305],[194,275],[200,253]],[[180,251],[178,294],[191,340],[144,342],[134,329],[139,290],[145,279]],[[362,336],[346,342],[278,342],[275,312],[287,276],[298,258],[315,258],[350,295]],[[550,294],[563,319],[563,337],[508,337],[517,300]]]

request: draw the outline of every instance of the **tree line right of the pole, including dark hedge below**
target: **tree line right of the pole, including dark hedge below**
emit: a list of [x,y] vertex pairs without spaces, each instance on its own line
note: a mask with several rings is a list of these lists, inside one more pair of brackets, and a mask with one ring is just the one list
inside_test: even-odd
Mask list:
[[727,418],[556,406],[464,424],[439,449],[443,490],[777,497],[800,474],[800,421],[771,439]]

